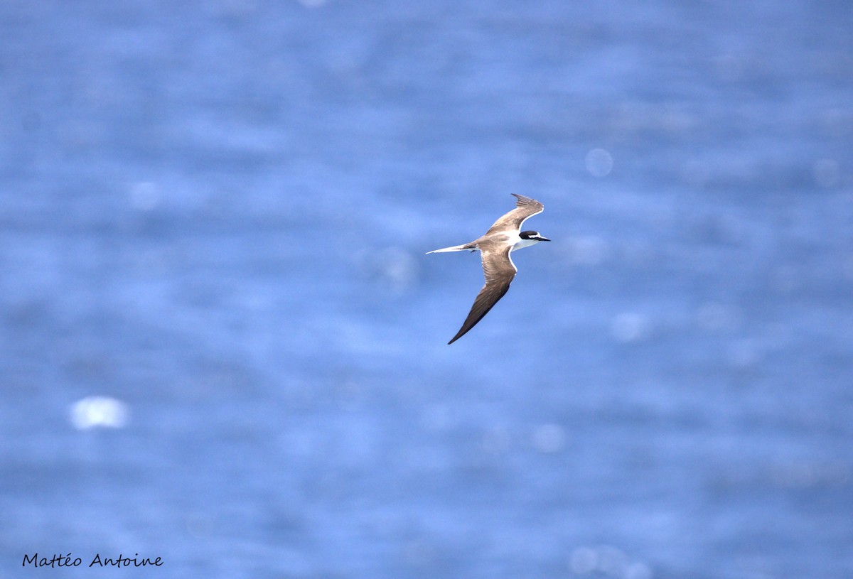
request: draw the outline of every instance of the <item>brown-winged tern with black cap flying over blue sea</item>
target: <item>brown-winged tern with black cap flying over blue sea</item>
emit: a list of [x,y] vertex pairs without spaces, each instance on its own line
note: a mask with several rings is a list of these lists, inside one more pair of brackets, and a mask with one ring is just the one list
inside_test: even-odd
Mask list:
[[528,217],[542,213],[544,206],[537,200],[524,195],[514,194],[518,198],[515,209],[498,219],[482,237],[465,243],[461,246],[444,247],[429,253],[442,252],[480,252],[483,260],[483,275],[485,275],[485,286],[477,294],[471,311],[459,328],[456,336],[448,342],[448,345],[456,342],[467,333],[483,316],[489,313],[492,306],[504,296],[509,289],[518,269],[515,268],[513,258],[510,257],[516,249],[529,247],[539,241],[550,241],[543,237],[538,231],[521,231],[522,223]]

